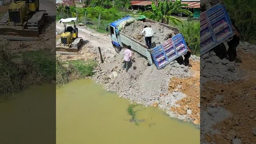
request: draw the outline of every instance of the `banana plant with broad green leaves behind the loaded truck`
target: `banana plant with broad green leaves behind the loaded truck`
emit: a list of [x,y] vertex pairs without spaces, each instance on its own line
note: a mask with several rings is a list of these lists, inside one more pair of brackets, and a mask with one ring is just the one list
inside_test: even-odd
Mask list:
[[168,2],[168,0],[158,0],[156,4],[152,0],[152,10],[147,10],[144,14],[157,22],[161,22],[164,24],[169,24],[169,21],[172,21],[174,24],[178,25],[178,23],[182,23],[182,21],[174,16],[171,16],[172,13],[178,14],[180,12],[190,15],[193,14],[189,10],[182,9],[182,7],[188,6],[188,4],[182,4],[180,0],[176,0],[175,2]]

